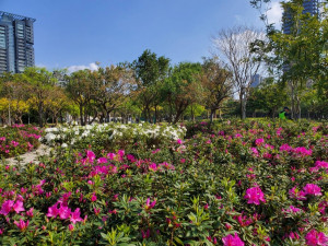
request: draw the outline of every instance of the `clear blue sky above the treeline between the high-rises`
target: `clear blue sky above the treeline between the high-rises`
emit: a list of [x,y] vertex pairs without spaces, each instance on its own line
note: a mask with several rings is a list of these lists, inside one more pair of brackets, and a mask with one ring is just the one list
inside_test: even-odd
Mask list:
[[0,10],[36,19],[35,63],[48,69],[132,61],[147,48],[201,61],[220,28],[262,26],[248,0],[0,0]]

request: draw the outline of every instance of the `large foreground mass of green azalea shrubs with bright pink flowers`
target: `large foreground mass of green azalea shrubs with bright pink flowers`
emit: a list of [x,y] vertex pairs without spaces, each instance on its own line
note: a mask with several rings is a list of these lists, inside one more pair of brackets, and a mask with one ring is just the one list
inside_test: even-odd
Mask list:
[[2,165],[0,244],[328,244],[326,124],[208,129],[98,153],[61,143],[38,164]]

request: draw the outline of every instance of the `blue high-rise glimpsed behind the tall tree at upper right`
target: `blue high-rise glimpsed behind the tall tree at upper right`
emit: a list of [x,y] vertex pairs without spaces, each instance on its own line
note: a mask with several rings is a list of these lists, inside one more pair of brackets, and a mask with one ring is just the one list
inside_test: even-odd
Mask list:
[[[316,15],[319,13],[319,0],[303,0],[303,13],[309,13],[311,15]],[[291,10],[284,10],[282,16],[282,32],[284,34],[292,33],[292,14]]]

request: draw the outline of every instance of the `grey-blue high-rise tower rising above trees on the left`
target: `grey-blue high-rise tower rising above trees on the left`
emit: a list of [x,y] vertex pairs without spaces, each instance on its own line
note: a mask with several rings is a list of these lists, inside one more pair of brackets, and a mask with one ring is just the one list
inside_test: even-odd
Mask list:
[[0,74],[34,66],[35,19],[0,11]]

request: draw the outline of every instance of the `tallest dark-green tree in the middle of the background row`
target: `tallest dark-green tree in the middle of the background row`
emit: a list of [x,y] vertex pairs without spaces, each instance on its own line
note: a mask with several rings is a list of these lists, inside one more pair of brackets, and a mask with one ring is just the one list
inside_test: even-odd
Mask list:
[[169,59],[159,57],[149,49],[132,62],[138,86],[138,99],[142,107],[145,120],[151,119],[151,108],[156,107],[160,97],[157,85],[167,77]]

